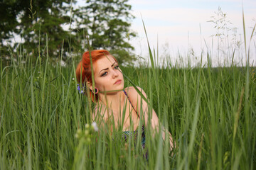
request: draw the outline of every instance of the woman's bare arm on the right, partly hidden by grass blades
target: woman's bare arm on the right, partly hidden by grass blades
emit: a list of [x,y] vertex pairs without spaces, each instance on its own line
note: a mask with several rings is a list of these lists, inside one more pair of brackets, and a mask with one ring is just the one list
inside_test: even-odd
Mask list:
[[[140,87],[137,87],[137,89],[139,89],[139,91],[142,92],[143,96],[145,98],[147,98],[146,93],[143,91],[143,89],[141,89]],[[149,114],[149,105],[146,103],[146,101],[144,101],[144,99],[142,98],[142,96],[140,96],[138,94],[138,92],[136,91],[136,89],[134,89],[134,87],[129,87],[127,89],[129,91],[129,98],[132,102],[132,105],[135,106],[135,109],[137,110],[137,113],[139,114],[139,118],[144,118],[145,120],[145,125],[148,125],[148,121],[150,121],[150,125],[151,128],[153,130],[153,132],[159,132],[159,127],[162,127],[162,137],[165,140],[166,137],[166,132],[169,133],[169,142],[170,142],[170,147],[171,149],[174,148],[174,141],[171,137],[171,133],[168,130],[165,130],[165,128],[160,125],[159,123],[159,118],[156,115],[156,112],[154,111],[154,109],[152,108],[151,111],[151,115]],[[150,118],[149,118],[150,116]],[[153,135],[154,135],[153,133]]]

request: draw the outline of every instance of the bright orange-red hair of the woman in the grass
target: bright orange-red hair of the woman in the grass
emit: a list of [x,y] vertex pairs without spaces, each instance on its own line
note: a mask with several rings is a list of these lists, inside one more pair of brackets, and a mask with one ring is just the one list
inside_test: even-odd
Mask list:
[[[97,60],[99,60],[100,58],[102,58],[106,55],[110,55],[110,52],[108,52],[107,50],[92,50],[90,52],[87,51],[87,52],[83,53],[82,60],[81,60],[81,62],[78,63],[78,67],[75,71],[78,83],[82,84],[81,88],[82,88],[83,84],[85,83],[85,81],[92,83],[90,57],[92,57],[92,64],[94,64]],[[117,62],[117,60],[115,58],[114,58],[114,60]],[[96,98],[94,98],[94,95],[92,95],[92,91],[90,90],[90,98],[92,98],[92,101],[95,101],[95,99],[97,101],[97,99],[98,99],[97,94],[95,94],[95,97]]]

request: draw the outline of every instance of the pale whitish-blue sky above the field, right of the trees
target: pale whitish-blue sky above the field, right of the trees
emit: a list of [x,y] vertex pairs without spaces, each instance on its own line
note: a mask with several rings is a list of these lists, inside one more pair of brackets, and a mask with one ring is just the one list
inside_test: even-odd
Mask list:
[[[230,64],[230,56],[232,56],[230,53],[233,50],[227,50],[227,40],[234,45],[234,49],[235,42],[239,40],[240,50],[235,51],[235,54],[238,54],[235,55],[235,61],[238,65],[245,65],[242,8],[248,48],[252,28],[256,23],[256,0],[130,0],[129,4],[132,5],[132,14],[135,16],[131,28],[137,33],[137,38],[133,38],[130,42],[135,47],[136,55],[145,58],[149,55],[143,20],[149,45],[159,51],[161,60],[169,56],[174,62],[181,60],[180,56],[182,56],[183,63],[187,64],[190,61],[192,65],[196,65],[200,61],[198,57],[201,57],[202,52],[204,54],[210,52],[213,56],[213,65]],[[230,30],[217,30],[213,22],[208,22],[214,20],[213,16],[217,17],[218,8],[226,14],[226,21],[223,23],[226,23],[225,28]],[[222,41],[214,36],[217,33],[225,33]],[[256,65],[255,37],[256,34],[250,43],[252,50],[250,64],[254,65]],[[218,42],[221,44],[219,48]],[[191,55],[192,50],[193,55]],[[223,50],[225,52],[221,52]],[[228,52],[229,54],[225,54]],[[206,55],[203,55],[202,60],[207,61]]]

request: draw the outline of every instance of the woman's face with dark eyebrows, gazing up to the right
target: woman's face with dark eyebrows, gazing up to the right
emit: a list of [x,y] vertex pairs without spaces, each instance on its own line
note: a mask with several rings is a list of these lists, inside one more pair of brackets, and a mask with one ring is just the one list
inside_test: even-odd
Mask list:
[[112,55],[107,55],[93,63],[95,87],[99,91],[124,89],[124,77]]

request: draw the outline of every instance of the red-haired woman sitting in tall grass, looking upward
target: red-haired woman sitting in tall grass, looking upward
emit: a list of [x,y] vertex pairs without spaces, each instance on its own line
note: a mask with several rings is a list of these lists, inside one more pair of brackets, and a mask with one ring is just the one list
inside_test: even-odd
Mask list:
[[[93,69],[91,69],[90,56]],[[125,139],[129,132],[137,132],[140,122],[144,122],[146,128],[150,125],[152,130],[159,131],[159,118],[155,111],[151,111],[151,118],[149,118],[148,104],[137,90],[132,86],[124,89],[122,71],[119,69],[117,60],[107,50],[85,52],[76,69],[76,77],[80,85],[87,87],[92,101],[96,103],[92,119],[99,120],[100,125],[110,123],[111,128],[121,127]],[[137,89],[146,98],[145,92],[139,87]],[[145,140],[144,125],[142,125],[143,141]],[[164,131],[163,138],[165,138]],[[172,149],[174,145],[170,132],[169,137]],[[144,142],[142,145],[144,147]]]

